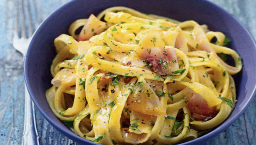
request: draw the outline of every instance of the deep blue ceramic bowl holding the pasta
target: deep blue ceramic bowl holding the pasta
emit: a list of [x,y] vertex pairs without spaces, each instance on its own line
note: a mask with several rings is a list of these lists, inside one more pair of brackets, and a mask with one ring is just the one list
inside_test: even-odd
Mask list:
[[183,144],[201,144],[226,130],[247,109],[255,96],[256,44],[246,28],[231,14],[214,3],[202,0],[74,0],[50,15],[38,28],[25,57],[25,81],[28,92],[46,120],[73,141],[96,144],[85,140],[68,129],[50,109],[45,92],[51,87],[50,65],[55,57],[53,40],[67,33],[70,24],[80,18],[113,6],[126,6],[145,13],[170,17],[179,21],[195,20],[207,24],[210,30],[221,31],[232,39],[230,45],[242,57],[243,69],[235,75],[237,103],[234,111],[210,133]]

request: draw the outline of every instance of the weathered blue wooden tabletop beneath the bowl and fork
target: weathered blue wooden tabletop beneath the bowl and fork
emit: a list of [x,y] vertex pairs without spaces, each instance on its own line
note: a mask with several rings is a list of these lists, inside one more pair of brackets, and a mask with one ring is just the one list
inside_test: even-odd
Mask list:
[[[32,14],[33,29],[70,0],[0,0],[0,141],[21,144],[24,121],[23,57],[12,45],[17,14]],[[256,38],[255,0],[210,0],[239,19]],[[30,9],[28,9],[30,8]],[[256,144],[256,98],[227,130],[205,144]],[[76,144],[54,129],[36,109],[41,144]]]

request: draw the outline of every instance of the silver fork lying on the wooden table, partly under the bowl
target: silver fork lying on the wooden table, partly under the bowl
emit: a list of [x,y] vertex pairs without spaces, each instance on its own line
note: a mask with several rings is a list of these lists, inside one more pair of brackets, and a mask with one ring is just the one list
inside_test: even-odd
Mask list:
[[[20,4],[21,3],[21,4]],[[27,13],[25,14],[24,0],[17,1],[17,15],[16,15],[16,30],[13,34],[13,46],[17,51],[20,51],[23,55],[23,59],[26,55],[28,45],[31,41],[33,34],[33,23],[30,9],[30,3],[27,3]],[[20,13],[21,12],[21,13]],[[22,22],[20,22],[20,18]],[[26,25],[28,22],[28,25]],[[37,21],[35,25],[38,26]],[[34,103],[31,101],[25,84],[25,106],[24,106],[24,130],[22,135],[22,145],[39,145],[39,136],[36,128],[35,109]]]

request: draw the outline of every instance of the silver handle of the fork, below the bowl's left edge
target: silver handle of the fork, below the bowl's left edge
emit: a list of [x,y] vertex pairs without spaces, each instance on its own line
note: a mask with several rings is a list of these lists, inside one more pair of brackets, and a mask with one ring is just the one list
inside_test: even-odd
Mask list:
[[24,110],[24,130],[22,135],[22,145],[39,145],[40,143],[36,128],[34,103],[30,99],[26,84]]

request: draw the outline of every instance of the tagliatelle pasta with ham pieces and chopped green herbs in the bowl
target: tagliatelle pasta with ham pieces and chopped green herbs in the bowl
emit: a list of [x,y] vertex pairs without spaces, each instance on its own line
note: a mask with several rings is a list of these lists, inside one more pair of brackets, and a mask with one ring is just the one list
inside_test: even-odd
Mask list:
[[[68,32],[54,40],[46,99],[82,138],[186,142],[221,124],[235,106],[231,75],[241,70],[241,57],[206,25],[112,7],[73,22]],[[235,66],[222,60],[226,55]]]

